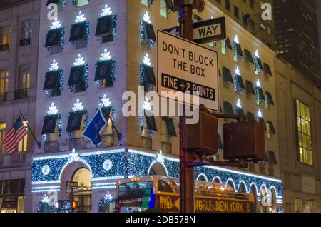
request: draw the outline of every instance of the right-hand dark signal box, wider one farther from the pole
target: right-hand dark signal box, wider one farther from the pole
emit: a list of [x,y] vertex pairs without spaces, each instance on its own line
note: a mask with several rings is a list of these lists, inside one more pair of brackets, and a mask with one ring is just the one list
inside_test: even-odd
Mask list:
[[225,160],[263,161],[265,158],[265,126],[259,122],[223,125]]

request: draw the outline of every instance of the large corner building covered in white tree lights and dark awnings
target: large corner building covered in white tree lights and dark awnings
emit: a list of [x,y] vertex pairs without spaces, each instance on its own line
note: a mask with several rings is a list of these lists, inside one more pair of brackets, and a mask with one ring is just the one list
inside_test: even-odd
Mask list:
[[[39,209],[46,196],[54,205],[66,201],[68,181],[78,182],[73,198],[80,201],[79,209],[98,212],[106,194],[115,196],[118,179],[178,177],[178,117],[144,116],[148,100],[144,90],[138,90],[145,86],[146,91],[156,91],[156,79],[146,74],[157,72],[157,38],[149,31],[177,25],[177,14],[166,9],[165,1],[59,1],[58,19],[50,21],[48,4],[41,1],[36,137],[42,138],[43,146],[35,146],[32,162],[32,211]],[[250,163],[248,170],[195,168],[195,179],[253,193],[258,211],[275,212],[282,207],[273,101],[275,54],[209,1],[197,16],[225,16],[229,38],[204,44],[218,52],[220,111],[264,121],[268,153],[266,162]],[[107,21],[108,33],[100,31],[103,21]],[[126,91],[140,97],[133,102],[137,116],[123,115]],[[102,132],[101,146],[92,146],[83,138],[83,128],[100,104],[113,121]],[[223,154],[216,158],[223,161]],[[269,206],[260,203],[263,191],[272,198]]]

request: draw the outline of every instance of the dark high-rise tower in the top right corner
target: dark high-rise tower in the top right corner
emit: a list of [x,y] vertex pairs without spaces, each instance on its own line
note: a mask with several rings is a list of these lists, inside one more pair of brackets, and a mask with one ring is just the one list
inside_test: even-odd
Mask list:
[[274,0],[277,55],[321,86],[315,0]]

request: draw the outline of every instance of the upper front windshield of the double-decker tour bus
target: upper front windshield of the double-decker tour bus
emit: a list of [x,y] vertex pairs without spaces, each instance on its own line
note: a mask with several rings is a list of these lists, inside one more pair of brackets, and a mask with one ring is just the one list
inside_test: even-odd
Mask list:
[[153,182],[151,181],[135,181],[123,183],[118,187],[119,198],[141,197],[153,190]]

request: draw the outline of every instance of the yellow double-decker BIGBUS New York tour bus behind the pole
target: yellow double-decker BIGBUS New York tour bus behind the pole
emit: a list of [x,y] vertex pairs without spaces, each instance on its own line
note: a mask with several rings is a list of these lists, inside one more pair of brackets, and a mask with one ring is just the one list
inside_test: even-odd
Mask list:
[[[130,178],[117,182],[115,211],[180,211],[179,179],[165,176]],[[235,193],[231,186],[195,181],[195,212],[253,213],[253,194]]]

